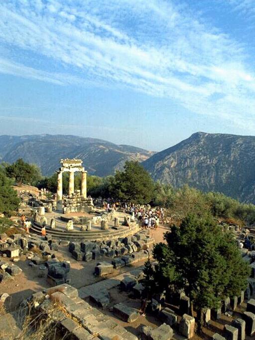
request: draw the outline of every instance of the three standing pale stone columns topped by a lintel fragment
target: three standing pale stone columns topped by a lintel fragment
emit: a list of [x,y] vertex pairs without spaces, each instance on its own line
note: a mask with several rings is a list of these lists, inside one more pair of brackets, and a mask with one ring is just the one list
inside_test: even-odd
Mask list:
[[[57,210],[64,213],[85,211],[93,205],[91,198],[87,198],[87,171],[84,170],[81,160],[61,160],[62,167],[57,171]],[[63,172],[69,172],[68,196],[63,196]],[[81,172],[81,189],[74,190],[74,173]]]

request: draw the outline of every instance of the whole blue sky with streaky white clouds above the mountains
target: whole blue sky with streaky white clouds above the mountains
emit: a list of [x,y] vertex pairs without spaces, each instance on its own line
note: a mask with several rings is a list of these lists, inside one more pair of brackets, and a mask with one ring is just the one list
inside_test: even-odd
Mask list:
[[1,0],[0,135],[254,135],[254,32],[254,0]]

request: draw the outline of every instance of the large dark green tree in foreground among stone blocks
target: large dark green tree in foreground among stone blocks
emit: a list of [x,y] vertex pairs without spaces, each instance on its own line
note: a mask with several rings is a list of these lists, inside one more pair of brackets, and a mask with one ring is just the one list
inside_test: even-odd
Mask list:
[[225,297],[239,296],[245,290],[249,266],[232,233],[223,232],[210,215],[189,214],[164,238],[166,243],[156,244],[153,249],[158,261],[153,289],[183,289],[191,300],[191,314],[193,307],[198,311],[201,328],[203,309],[217,308]]

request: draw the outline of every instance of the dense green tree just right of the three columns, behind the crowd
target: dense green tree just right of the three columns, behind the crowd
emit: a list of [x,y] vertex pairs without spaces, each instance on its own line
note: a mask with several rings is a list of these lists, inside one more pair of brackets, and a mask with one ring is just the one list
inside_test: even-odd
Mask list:
[[123,171],[117,171],[112,183],[113,196],[135,203],[149,203],[154,195],[154,182],[138,163],[127,161]]

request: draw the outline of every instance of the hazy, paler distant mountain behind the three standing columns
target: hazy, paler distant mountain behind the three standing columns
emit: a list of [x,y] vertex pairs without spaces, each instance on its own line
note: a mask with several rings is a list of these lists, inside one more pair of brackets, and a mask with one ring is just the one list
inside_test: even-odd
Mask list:
[[13,163],[22,158],[37,164],[43,175],[60,167],[60,159],[76,158],[90,174],[106,176],[122,169],[127,160],[145,161],[154,153],[129,145],[77,136],[0,136],[0,160]]

